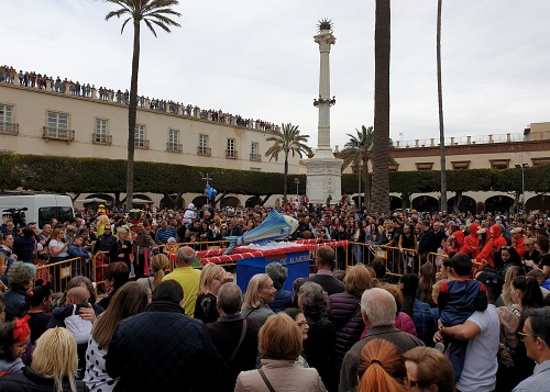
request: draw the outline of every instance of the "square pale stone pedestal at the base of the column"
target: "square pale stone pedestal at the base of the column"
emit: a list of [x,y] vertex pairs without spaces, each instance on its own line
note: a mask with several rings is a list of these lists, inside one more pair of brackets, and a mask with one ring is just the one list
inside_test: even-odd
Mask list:
[[[317,153],[316,153],[317,155]],[[329,194],[332,204],[342,195],[342,159],[311,158],[305,161],[308,169],[307,195],[310,203],[327,203]]]

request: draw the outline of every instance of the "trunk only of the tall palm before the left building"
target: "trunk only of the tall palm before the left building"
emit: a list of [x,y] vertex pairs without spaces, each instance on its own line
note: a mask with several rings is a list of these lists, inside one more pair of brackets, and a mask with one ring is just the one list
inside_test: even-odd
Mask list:
[[138,116],[138,71],[140,69],[140,21],[134,20],[134,53],[132,56],[132,79],[130,81],[130,105],[128,108],[128,166],[127,166],[127,211],[131,210],[134,198],[134,149],[135,119]]

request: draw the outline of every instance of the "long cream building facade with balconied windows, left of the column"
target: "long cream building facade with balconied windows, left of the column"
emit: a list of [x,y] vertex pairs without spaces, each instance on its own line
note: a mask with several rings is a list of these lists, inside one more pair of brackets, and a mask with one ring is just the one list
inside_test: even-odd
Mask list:
[[[0,82],[0,153],[127,159],[128,105],[120,97],[96,89],[76,94]],[[284,160],[264,154],[276,126],[199,108],[165,103],[151,109],[141,100],[135,128],[135,161],[166,163],[235,170],[283,172]],[[158,105],[157,105],[158,108]],[[289,157],[289,175],[300,171]],[[212,183],[216,187],[216,180]],[[185,194],[186,202],[199,195]],[[85,195],[82,195],[85,197]],[[150,194],[157,205],[161,194]],[[246,195],[233,195],[244,205]],[[267,205],[278,198],[271,198]]]

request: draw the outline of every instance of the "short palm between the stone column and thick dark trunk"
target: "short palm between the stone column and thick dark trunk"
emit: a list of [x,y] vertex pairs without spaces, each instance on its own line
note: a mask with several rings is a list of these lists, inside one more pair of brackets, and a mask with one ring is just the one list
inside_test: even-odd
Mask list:
[[[361,209],[361,178],[365,184],[365,205],[366,210],[371,209],[371,178],[369,176],[369,161],[373,158],[373,142],[374,132],[372,126],[361,126],[361,131],[355,130],[358,135],[346,134],[350,136],[344,148],[340,153],[343,159],[342,170],[345,170],[350,164],[359,170],[360,191],[359,191],[359,209]],[[363,170],[362,170],[363,169]]]

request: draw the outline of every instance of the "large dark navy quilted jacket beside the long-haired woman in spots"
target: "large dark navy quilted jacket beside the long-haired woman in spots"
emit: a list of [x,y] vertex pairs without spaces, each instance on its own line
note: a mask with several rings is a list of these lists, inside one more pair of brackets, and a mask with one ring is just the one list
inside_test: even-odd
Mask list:
[[106,358],[114,391],[215,391],[222,366],[205,324],[165,301],[120,322]]

